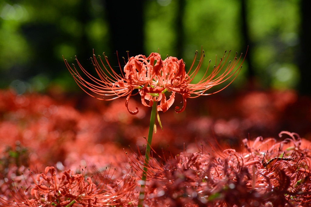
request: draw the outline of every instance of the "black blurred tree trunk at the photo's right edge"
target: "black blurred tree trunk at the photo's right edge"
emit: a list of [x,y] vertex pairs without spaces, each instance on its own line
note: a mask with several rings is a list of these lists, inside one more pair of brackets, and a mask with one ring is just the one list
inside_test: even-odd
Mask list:
[[310,26],[310,3],[309,0],[301,0],[300,14],[301,14],[301,31],[300,31],[300,45],[301,54],[299,55],[299,70],[300,70],[300,85],[299,92],[302,94],[311,95],[311,66],[310,66],[310,48],[311,48],[311,26]]

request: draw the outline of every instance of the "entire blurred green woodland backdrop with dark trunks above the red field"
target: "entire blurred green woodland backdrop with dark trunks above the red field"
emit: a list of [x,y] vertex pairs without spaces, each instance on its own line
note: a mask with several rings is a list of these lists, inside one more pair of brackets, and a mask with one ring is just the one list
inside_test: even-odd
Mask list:
[[[205,50],[215,63],[225,50],[248,55],[232,87],[310,93],[307,0],[2,0],[0,88],[17,93],[81,91],[63,56],[93,70],[89,58],[158,52],[183,58]],[[233,56],[231,56],[233,58]],[[187,65],[188,63],[188,65]],[[204,71],[204,70],[202,70]]]

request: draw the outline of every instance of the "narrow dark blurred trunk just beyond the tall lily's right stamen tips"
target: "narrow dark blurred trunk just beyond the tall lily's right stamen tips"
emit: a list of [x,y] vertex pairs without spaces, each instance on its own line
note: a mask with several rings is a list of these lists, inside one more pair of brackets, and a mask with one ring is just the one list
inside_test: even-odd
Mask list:
[[[248,71],[247,71],[247,78],[248,78],[248,87],[249,89],[254,89],[255,87],[255,72],[252,66],[252,43],[249,38],[248,33],[248,21],[247,21],[247,2],[246,0],[241,0],[241,21],[242,21],[242,51],[244,51],[248,46],[247,56],[245,58],[246,62],[248,63]],[[246,52],[246,51],[245,51]],[[243,54],[245,54],[243,52]]]

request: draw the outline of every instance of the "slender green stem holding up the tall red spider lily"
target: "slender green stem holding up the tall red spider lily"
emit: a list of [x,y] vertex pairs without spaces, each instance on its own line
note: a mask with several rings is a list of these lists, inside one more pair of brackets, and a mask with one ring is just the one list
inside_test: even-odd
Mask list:
[[146,187],[147,170],[148,170],[147,166],[149,164],[149,157],[150,157],[150,151],[151,151],[153,126],[156,121],[156,110],[157,110],[157,102],[153,102],[151,116],[150,116],[150,125],[149,125],[149,132],[148,132],[148,139],[147,139],[147,146],[146,146],[145,163],[144,163],[144,170],[142,173],[142,184],[140,187],[138,207],[143,206],[144,197],[145,197],[145,187]]

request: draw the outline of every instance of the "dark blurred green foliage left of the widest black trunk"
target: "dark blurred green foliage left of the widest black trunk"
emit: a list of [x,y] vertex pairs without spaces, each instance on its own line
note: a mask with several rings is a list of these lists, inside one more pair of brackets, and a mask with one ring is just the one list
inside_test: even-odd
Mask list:
[[[84,4],[86,7],[83,7]],[[91,14],[85,18],[83,10]],[[5,1],[0,3],[0,87],[18,93],[45,91],[50,85],[71,90],[71,77],[63,55],[88,56],[88,42],[102,51],[109,41],[107,21],[100,1]],[[70,81],[69,81],[70,79]]]

